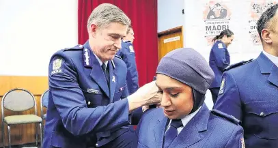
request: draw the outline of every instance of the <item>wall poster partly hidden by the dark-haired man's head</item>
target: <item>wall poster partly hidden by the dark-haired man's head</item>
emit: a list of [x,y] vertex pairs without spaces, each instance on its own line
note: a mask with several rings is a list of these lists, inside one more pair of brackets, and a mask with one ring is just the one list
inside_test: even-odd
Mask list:
[[248,21],[249,23],[249,34],[250,34],[250,40],[254,46],[261,46],[262,42],[260,40],[260,35],[257,31],[257,23],[258,19],[262,15],[262,13],[269,8],[271,5],[275,5],[277,1],[274,0],[252,0],[250,1],[249,5],[249,15],[250,19]]

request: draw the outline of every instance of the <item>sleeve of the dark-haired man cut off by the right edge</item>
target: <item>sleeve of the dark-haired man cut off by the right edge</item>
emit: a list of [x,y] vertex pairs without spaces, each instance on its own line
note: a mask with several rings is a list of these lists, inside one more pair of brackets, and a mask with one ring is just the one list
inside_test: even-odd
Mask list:
[[214,108],[228,115],[232,115],[240,121],[242,120],[242,108],[238,86],[234,76],[229,71],[224,72],[222,76],[219,95],[217,102],[214,104]]

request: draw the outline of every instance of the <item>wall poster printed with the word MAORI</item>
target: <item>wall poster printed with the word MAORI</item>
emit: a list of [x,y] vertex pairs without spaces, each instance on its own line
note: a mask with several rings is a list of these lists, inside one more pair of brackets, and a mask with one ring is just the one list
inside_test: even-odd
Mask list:
[[225,29],[229,29],[232,12],[225,1],[209,1],[204,12],[204,27],[207,44],[212,44],[212,39]]

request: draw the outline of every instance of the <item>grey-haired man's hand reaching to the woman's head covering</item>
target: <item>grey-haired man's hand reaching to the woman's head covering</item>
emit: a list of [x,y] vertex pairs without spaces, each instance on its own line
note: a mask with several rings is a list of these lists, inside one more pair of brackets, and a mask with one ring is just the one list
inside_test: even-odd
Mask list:
[[158,104],[162,95],[158,93],[156,81],[140,87],[135,93],[128,96],[129,110],[134,110],[144,105]]

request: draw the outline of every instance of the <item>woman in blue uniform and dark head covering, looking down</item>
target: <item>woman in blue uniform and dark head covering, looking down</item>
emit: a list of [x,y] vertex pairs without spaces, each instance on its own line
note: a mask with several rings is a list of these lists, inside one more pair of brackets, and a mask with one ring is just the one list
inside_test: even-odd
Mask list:
[[144,112],[137,126],[138,147],[244,147],[239,121],[210,112],[204,103],[214,77],[204,57],[191,48],[172,50],[161,59],[156,76],[162,108]]

